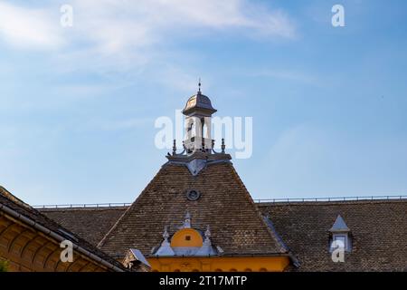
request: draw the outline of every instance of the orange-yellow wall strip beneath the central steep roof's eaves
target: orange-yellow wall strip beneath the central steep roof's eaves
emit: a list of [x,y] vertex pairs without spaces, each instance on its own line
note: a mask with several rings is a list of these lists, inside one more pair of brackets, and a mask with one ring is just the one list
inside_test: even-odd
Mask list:
[[289,257],[151,257],[148,262],[158,272],[282,272],[289,266]]

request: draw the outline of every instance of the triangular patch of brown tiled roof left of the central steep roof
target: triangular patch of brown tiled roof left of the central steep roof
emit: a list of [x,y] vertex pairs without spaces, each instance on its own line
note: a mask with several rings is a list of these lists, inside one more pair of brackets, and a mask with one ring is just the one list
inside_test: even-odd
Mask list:
[[127,208],[38,208],[38,210],[97,246]]

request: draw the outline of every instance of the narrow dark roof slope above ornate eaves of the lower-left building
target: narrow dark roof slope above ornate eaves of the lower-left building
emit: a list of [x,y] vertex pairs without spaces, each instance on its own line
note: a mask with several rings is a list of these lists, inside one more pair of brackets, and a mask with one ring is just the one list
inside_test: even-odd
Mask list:
[[47,228],[47,230],[50,230],[58,234],[59,236],[64,237],[67,240],[70,240],[74,245],[78,245],[79,247],[84,248],[93,255],[98,256],[99,259],[109,262],[110,265],[116,266],[116,268],[121,269],[122,271],[127,271],[126,268],[122,266],[120,263],[118,263],[117,260],[106,255],[104,252],[99,250],[99,248],[90,245],[89,242],[75,235],[67,228],[62,227],[51,218],[47,218],[41,212],[25,204],[19,198],[14,197],[13,194],[11,194],[3,187],[0,187],[0,205],[6,208],[10,208],[14,212],[17,212],[19,215],[23,216],[24,218],[31,219],[36,224]]

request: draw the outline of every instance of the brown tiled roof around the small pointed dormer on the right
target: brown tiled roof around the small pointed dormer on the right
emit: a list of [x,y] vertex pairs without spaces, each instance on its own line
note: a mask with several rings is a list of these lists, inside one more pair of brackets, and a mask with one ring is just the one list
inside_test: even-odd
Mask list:
[[[407,200],[260,204],[298,257],[299,271],[407,271]],[[329,229],[340,215],[350,229],[345,263],[329,253]]]

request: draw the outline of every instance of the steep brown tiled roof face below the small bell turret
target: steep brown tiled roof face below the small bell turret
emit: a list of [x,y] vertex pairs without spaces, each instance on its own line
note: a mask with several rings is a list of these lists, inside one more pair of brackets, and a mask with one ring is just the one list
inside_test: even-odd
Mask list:
[[[200,191],[201,197],[188,200],[188,189]],[[174,234],[186,211],[191,214],[192,227],[211,227],[213,244],[222,247],[224,255],[286,253],[230,162],[208,165],[197,176],[185,165],[167,163],[99,247],[111,256],[124,256],[129,248],[149,256],[152,247],[160,245],[164,227]]]

